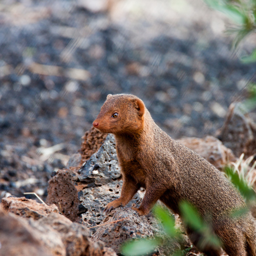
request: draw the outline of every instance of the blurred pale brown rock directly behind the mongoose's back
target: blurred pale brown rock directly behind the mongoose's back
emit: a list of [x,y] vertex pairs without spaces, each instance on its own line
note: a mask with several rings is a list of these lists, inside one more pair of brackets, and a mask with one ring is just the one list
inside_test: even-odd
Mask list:
[[205,138],[182,138],[178,142],[194,150],[220,169],[229,162],[236,161],[232,150],[226,148],[220,140],[212,136],[206,136]]

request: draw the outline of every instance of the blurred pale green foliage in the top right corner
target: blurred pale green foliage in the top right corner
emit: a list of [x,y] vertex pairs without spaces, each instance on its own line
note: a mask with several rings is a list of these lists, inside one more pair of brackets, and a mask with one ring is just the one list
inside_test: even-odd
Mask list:
[[[256,32],[256,1],[255,0],[204,0],[208,6],[224,13],[233,25],[227,32],[234,34],[233,47],[252,32]],[[256,48],[249,56],[241,58],[244,63],[256,62]]]

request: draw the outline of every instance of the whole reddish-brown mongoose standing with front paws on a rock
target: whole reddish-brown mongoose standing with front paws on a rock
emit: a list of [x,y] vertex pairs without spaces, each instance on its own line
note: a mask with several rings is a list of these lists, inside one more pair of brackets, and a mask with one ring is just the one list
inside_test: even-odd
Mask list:
[[[109,94],[93,125],[114,134],[123,177],[120,198],[107,204],[105,212],[126,205],[144,187],[140,207],[133,208],[138,214],[148,214],[158,199],[179,214],[179,203],[185,200],[209,222],[229,256],[256,256],[256,220],[250,212],[230,218],[233,210],[246,205],[238,190],[207,160],[161,130],[142,100]],[[202,248],[200,234],[190,228],[187,232],[199,250],[220,256],[221,248]]]

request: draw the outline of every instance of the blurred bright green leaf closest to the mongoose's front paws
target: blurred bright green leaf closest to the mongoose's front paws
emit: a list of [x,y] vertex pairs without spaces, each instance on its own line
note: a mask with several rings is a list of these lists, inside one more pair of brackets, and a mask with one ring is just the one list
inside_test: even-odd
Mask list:
[[165,210],[161,206],[156,205],[154,207],[154,214],[156,215],[156,218],[158,218],[158,220],[162,222],[166,234],[171,237],[175,237],[177,235],[175,220],[170,215],[170,212],[167,209]]

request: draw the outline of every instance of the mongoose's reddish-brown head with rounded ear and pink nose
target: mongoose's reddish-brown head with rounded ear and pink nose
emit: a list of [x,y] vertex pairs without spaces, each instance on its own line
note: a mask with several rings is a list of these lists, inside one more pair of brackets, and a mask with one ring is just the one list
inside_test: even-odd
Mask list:
[[108,94],[93,126],[101,132],[138,134],[144,127],[145,106],[132,94]]

